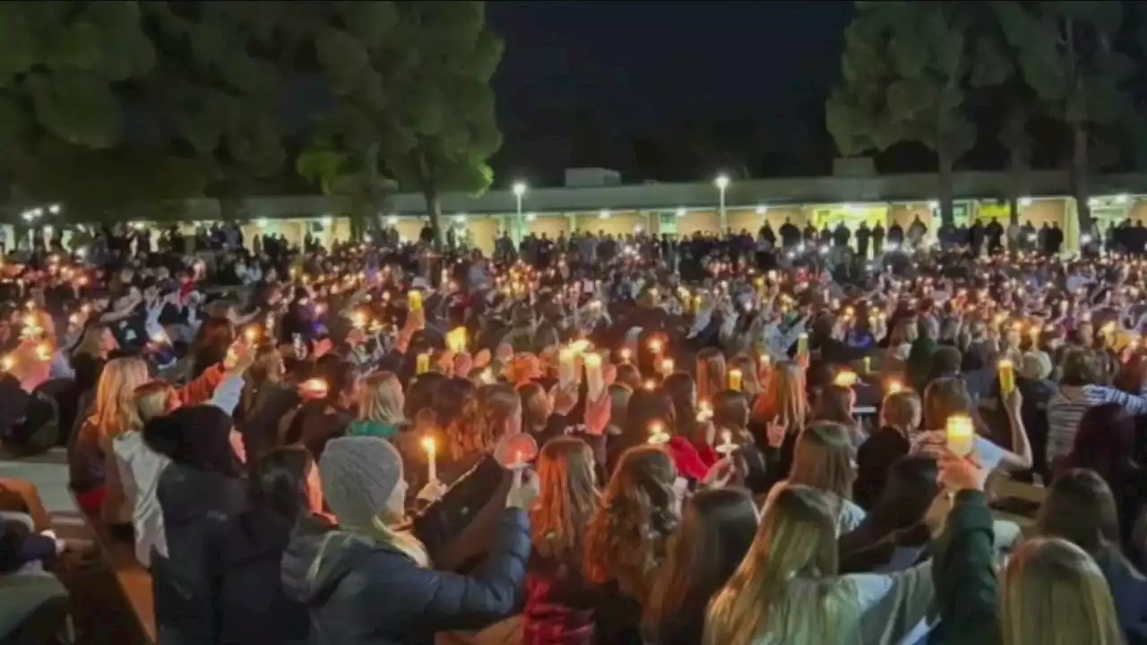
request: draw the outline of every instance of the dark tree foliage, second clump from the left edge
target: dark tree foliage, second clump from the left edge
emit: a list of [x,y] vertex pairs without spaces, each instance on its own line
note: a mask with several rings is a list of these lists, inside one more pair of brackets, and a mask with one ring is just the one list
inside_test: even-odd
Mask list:
[[[311,3],[142,3],[162,55],[142,85],[156,137],[214,169],[226,194],[281,173],[288,158],[280,118],[284,73]],[[297,11],[296,11],[297,7]]]

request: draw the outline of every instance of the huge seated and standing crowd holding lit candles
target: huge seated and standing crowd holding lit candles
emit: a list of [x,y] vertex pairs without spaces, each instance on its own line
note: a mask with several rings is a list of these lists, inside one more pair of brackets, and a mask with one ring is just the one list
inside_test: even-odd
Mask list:
[[[1147,265],[788,226],[41,240],[0,437],[67,446],[161,643],[1147,643]],[[50,643],[73,546],[0,511],[0,631]]]

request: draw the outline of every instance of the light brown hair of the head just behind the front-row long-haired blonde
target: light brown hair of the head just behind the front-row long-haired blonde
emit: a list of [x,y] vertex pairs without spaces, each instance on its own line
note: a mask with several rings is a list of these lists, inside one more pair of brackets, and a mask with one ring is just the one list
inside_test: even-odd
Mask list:
[[788,481],[852,498],[852,441],[849,429],[835,421],[816,421],[796,440]]

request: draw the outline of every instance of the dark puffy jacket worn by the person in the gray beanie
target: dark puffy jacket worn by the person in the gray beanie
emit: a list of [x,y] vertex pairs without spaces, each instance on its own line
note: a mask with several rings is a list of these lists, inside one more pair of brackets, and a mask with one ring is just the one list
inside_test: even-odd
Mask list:
[[429,645],[439,631],[505,617],[525,583],[530,523],[506,510],[473,576],[426,569],[401,551],[304,519],[283,554],[287,597],[305,603],[317,645]]

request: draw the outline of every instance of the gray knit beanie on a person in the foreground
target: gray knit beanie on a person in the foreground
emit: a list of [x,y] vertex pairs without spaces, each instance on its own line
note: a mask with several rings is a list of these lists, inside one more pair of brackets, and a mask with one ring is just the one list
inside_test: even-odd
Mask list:
[[387,507],[401,476],[401,456],[381,437],[333,438],[319,459],[322,496],[341,524],[369,524]]

